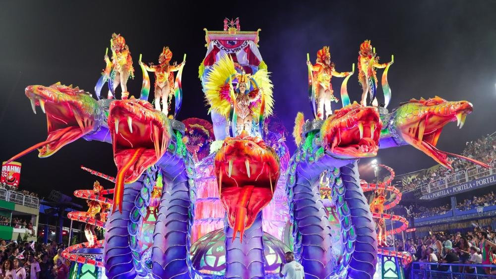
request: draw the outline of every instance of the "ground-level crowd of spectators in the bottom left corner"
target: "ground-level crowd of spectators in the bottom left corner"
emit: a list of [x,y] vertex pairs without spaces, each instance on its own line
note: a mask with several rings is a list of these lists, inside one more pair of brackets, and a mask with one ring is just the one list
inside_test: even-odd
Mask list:
[[4,279],[67,279],[70,262],[62,258],[65,245],[52,241],[0,241],[0,278]]

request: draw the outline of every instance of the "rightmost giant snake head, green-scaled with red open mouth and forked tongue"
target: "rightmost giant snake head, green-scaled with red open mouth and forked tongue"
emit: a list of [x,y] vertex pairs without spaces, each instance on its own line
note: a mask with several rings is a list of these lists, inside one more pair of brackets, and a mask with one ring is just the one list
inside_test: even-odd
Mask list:
[[392,112],[387,130],[383,133],[393,132],[401,141],[424,152],[440,165],[452,168],[448,155],[469,160],[483,167],[488,165],[479,161],[438,150],[435,146],[442,128],[449,122],[456,121],[460,129],[465,123],[467,114],[471,113],[473,106],[467,101],[448,102],[442,98],[412,99],[401,104]]

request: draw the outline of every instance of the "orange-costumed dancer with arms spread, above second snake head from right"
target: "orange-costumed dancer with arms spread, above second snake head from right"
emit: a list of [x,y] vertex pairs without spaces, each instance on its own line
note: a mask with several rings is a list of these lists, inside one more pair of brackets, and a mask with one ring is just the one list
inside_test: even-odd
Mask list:
[[[331,84],[331,78],[336,77],[346,77],[352,72],[337,72],[334,68],[334,62],[331,62],[331,54],[329,53],[329,47],[325,46],[317,52],[317,59],[315,64],[311,65],[310,61],[307,61],[309,67],[311,67],[313,73],[313,79],[316,81],[316,97],[317,97],[317,117],[320,119],[327,118],[327,116],[332,114],[331,102],[338,102],[339,100],[334,97]],[[325,117],[324,117],[325,108]]]

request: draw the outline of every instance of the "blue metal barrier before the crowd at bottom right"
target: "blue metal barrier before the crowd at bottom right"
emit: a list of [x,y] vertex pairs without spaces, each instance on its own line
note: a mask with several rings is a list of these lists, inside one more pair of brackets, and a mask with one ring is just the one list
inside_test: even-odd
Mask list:
[[496,279],[486,274],[487,268],[496,270],[495,265],[413,262],[410,279]]

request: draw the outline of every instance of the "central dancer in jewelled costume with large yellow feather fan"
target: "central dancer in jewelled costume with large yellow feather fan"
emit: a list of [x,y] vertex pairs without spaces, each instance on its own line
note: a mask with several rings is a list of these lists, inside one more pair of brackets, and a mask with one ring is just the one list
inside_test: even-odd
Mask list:
[[253,119],[257,119],[260,114],[263,114],[262,116],[272,114],[273,86],[267,70],[259,69],[255,74],[250,75],[237,68],[241,67],[236,65],[231,56],[223,56],[219,59],[206,77],[205,98],[210,105],[210,111],[222,114],[226,118],[229,117],[233,106],[238,116],[236,134],[240,134],[243,130],[251,134]]

